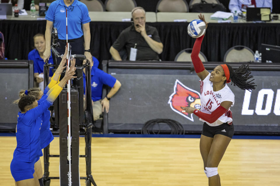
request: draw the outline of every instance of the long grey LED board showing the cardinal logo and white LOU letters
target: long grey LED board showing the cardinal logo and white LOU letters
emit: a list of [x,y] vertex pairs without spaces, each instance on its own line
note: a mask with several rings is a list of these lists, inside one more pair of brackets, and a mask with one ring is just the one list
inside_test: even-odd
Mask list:
[[[195,101],[188,95],[192,94],[198,99],[201,94],[199,77],[192,70],[191,62],[161,63],[108,61],[106,72],[112,74],[122,84],[120,90],[110,100],[108,119],[103,115],[103,120],[108,121],[108,132],[127,133],[130,130],[138,132],[148,120],[166,118],[181,123],[186,133],[201,133],[203,122],[195,115],[182,114],[179,107],[185,104],[190,106]],[[104,67],[106,64],[106,61],[102,62]],[[209,71],[219,64],[204,63]],[[233,69],[237,69],[242,64],[248,63],[230,65]],[[230,108],[235,133],[279,135],[277,118],[280,115],[278,104],[280,85],[275,82],[279,82],[280,79],[280,63],[249,63],[249,65],[257,85],[255,90],[248,94],[228,83],[235,95],[234,106]],[[164,125],[161,125],[160,128],[153,129],[160,131],[168,129],[163,127]]]

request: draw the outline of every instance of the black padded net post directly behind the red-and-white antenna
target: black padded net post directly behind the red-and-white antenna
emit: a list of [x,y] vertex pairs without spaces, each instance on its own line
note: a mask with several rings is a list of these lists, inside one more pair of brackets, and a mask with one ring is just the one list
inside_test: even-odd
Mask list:
[[[78,91],[71,88],[71,173],[72,185],[79,185],[79,102]],[[64,88],[59,96],[60,110],[60,185],[68,185],[69,161],[67,160],[67,88]]]

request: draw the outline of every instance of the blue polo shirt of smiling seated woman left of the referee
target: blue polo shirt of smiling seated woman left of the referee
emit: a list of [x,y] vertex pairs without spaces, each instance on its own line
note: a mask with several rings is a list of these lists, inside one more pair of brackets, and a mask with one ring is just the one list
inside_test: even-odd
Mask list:
[[[34,73],[43,73],[44,72],[44,60],[40,57],[38,50],[31,50],[28,54],[28,60],[33,60],[34,62]],[[53,57],[50,55],[49,63],[53,64]],[[50,67],[50,77],[53,76],[53,71],[51,70],[53,67]]]

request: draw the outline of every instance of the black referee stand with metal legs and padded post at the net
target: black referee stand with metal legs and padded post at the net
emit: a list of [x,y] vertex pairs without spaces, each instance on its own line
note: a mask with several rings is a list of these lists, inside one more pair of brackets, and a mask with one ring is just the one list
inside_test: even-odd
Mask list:
[[[45,87],[48,85],[48,72],[49,67],[56,68],[56,65],[45,64],[44,65],[44,82]],[[83,99],[81,102],[81,95],[83,96],[83,69],[86,72],[86,88],[85,99],[86,109],[83,111]],[[55,71],[55,69],[53,69]],[[75,80],[72,80],[73,84],[70,89],[70,101],[71,101],[71,185],[80,185],[80,179],[85,180],[85,185],[91,184],[97,186],[91,175],[91,138],[92,138],[92,104],[91,104],[91,69],[90,64],[87,63],[82,66],[76,66]],[[62,73],[62,76],[64,74]],[[82,108],[82,109],[81,109]],[[54,102],[55,123],[52,125],[57,126],[59,124],[59,138],[60,138],[60,155],[50,154],[50,145],[48,145],[44,151],[44,175],[43,183],[45,186],[50,186],[51,179],[60,179],[61,186],[68,186],[69,180],[69,161],[67,160],[67,88],[64,88],[59,95],[57,101]],[[82,116],[82,118],[81,118]],[[85,155],[79,154],[79,136],[85,137]],[[60,158],[60,176],[50,177],[49,172],[49,158]],[[85,158],[86,161],[86,176],[80,177],[79,173],[79,158]]]

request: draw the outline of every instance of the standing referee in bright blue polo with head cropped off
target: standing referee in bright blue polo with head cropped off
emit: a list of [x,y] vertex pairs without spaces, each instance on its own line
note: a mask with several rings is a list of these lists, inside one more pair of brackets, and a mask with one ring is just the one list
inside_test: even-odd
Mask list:
[[[46,50],[44,61],[50,58],[51,32],[53,26],[57,28],[58,42],[60,48],[57,51],[63,54],[66,45],[66,10],[67,10],[67,32],[68,42],[71,45],[71,54],[84,54],[92,64],[90,51],[90,15],[84,3],[78,0],[56,0],[50,4],[46,19]],[[53,56],[54,58],[54,56]],[[59,65],[61,59],[57,59]],[[76,65],[82,65],[82,60],[76,60]]]

